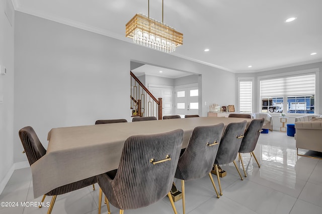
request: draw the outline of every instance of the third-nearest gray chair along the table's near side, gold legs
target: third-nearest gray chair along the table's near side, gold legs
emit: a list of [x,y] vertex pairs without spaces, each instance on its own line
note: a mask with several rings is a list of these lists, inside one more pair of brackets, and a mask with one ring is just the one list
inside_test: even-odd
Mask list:
[[242,122],[237,122],[237,123],[229,123],[225,128],[222,134],[222,137],[220,139],[218,152],[216,155],[216,159],[214,161],[214,167],[217,174],[220,195],[222,195],[222,191],[221,191],[221,184],[219,179],[219,170],[218,170],[219,164],[228,164],[233,162],[240,176],[240,179],[244,180],[244,178],[241,177],[241,174],[237,168],[235,158],[237,157],[241,140],[244,137],[246,123],[247,123],[246,120]]

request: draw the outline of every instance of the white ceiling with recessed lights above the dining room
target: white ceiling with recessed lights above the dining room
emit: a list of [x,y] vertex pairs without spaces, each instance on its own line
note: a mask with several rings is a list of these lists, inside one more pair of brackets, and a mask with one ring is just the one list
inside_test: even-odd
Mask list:
[[[12,1],[17,11],[128,42],[125,24],[147,14],[148,2]],[[184,34],[172,55],[235,73],[259,72],[322,61],[321,9],[321,0],[164,0],[164,23]],[[162,0],[150,1],[150,17],[162,21]],[[290,17],[297,19],[286,23]]]

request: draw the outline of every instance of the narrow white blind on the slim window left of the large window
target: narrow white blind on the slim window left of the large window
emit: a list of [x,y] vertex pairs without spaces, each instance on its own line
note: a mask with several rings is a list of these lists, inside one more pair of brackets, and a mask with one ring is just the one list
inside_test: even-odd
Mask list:
[[239,81],[239,111],[252,112],[252,81]]

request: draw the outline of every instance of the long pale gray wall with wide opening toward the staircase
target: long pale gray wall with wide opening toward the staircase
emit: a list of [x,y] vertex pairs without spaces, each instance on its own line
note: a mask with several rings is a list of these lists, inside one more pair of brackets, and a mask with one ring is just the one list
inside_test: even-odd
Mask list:
[[235,100],[230,72],[20,12],[15,31],[14,162],[26,160],[16,134],[23,126],[47,147],[53,127],[131,121],[130,61],[202,74],[203,101]]

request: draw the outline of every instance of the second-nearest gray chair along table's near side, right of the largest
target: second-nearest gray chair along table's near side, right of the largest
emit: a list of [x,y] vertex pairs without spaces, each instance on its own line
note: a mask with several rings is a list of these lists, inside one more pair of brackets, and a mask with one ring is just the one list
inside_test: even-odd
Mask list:
[[223,123],[194,128],[188,146],[180,156],[175,178],[181,179],[182,206],[185,214],[185,181],[195,180],[209,175],[212,185],[219,194],[211,175],[211,169],[218,151],[223,131]]

